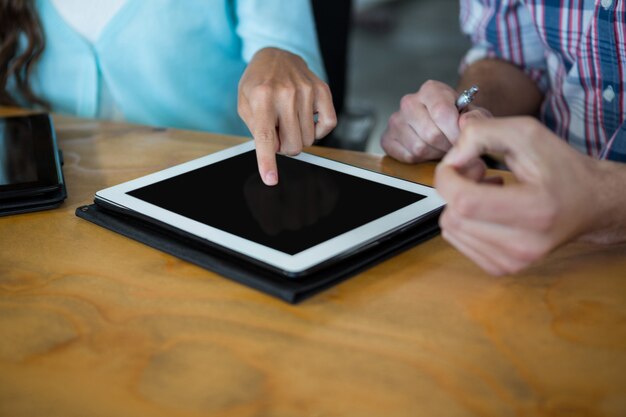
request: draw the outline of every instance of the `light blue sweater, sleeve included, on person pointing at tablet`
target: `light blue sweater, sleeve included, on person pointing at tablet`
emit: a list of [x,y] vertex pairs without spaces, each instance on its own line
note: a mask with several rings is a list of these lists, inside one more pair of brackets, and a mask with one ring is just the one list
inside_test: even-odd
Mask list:
[[237,85],[258,50],[324,76],[309,0],[127,0],[93,44],[49,0],[37,7],[46,49],[31,82],[56,112],[97,117],[104,80],[130,122],[247,135]]

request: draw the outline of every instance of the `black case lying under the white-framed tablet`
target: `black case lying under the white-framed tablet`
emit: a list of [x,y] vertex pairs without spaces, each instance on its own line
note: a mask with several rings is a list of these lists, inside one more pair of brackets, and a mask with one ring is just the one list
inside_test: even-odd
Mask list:
[[310,275],[288,278],[217,250],[191,234],[147,221],[114,205],[98,201],[76,209],[78,217],[289,303],[298,303],[437,235],[440,213],[441,210],[430,213],[410,228]]

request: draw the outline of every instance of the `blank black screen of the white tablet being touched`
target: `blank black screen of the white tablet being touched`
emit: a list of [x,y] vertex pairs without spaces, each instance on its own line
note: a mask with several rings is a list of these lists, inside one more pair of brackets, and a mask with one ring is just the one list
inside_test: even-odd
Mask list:
[[127,194],[290,255],[425,198],[294,158],[277,163],[274,187],[251,150]]

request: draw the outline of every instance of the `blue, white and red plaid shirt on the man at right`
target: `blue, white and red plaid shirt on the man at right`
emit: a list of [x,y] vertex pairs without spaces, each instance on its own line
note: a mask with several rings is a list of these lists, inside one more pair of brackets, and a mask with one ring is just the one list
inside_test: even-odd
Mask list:
[[473,47],[545,94],[541,120],[590,156],[626,162],[626,0],[461,0]]

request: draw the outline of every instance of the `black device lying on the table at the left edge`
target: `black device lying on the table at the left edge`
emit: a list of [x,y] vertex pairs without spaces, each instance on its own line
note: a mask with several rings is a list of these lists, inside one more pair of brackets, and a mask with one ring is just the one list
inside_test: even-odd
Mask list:
[[0,215],[57,207],[67,197],[48,114],[0,117]]

